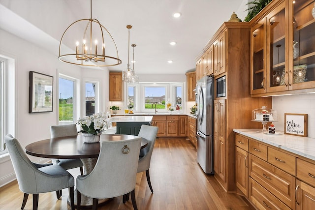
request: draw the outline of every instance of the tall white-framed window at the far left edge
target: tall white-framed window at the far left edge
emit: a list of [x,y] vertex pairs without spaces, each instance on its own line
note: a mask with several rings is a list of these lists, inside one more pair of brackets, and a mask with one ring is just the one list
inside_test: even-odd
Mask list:
[[0,55],[0,154],[5,153],[4,136],[15,136],[14,59]]

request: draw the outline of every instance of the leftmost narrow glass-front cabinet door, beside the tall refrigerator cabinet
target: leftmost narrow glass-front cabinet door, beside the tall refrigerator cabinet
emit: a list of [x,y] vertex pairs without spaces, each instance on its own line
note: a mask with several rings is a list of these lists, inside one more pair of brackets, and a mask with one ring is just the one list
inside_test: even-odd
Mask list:
[[251,94],[266,92],[266,18],[260,20],[251,29]]

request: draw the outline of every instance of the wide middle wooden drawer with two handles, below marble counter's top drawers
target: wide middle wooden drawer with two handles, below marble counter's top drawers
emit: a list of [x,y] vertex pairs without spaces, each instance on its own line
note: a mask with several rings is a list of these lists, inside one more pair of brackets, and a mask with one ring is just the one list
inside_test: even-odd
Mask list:
[[250,177],[288,207],[295,209],[295,177],[252,154],[249,156]]

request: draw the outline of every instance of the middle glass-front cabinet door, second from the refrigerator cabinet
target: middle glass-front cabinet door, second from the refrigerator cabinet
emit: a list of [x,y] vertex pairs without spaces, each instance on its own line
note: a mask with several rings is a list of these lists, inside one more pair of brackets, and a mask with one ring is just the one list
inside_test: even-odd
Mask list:
[[286,2],[267,15],[267,92],[288,90]]

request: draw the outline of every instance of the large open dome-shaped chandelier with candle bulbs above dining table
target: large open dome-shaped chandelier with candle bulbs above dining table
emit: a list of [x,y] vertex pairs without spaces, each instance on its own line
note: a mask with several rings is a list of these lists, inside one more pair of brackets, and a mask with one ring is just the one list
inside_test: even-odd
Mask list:
[[[83,33],[79,32],[82,29],[84,29]],[[74,40],[76,46],[68,48],[67,44],[71,46]],[[104,40],[106,40],[106,45]],[[73,53],[74,49],[75,53]],[[108,54],[108,52],[113,53]],[[98,20],[92,18],[92,0],[91,18],[77,20],[63,32],[59,44],[58,59],[66,63],[83,66],[114,66],[122,63],[118,57],[117,46],[112,35]]]

